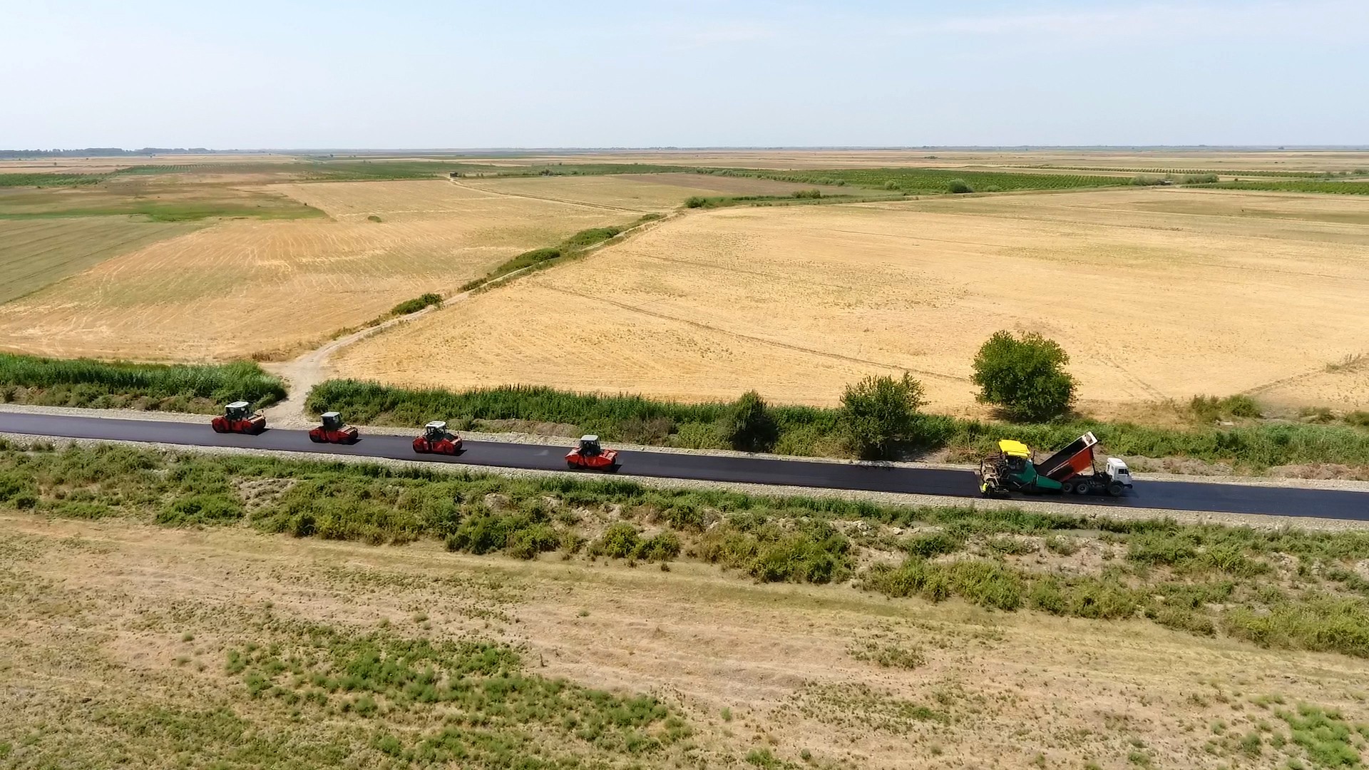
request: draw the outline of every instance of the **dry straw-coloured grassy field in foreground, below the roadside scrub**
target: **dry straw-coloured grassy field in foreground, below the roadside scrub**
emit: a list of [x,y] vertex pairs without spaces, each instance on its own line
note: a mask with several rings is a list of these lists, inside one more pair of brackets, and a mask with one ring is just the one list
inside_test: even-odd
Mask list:
[[[1362,659],[1142,619],[248,527],[11,512],[0,545],[0,748],[22,767],[427,766],[456,747],[505,767],[491,756],[520,745],[604,767],[1273,769],[1325,752],[1357,766],[1354,726],[1369,719]],[[370,675],[374,645],[413,644],[422,662],[468,640],[515,645],[522,699],[491,689],[446,715],[422,696],[329,685],[330,660],[356,658]],[[274,656],[282,665],[266,667]],[[552,697],[539,682],[554,677],[565,681],[552,715],[517,711]],[[575,721],[585,686],[654,696],[674,715],[672,743],[620,744],[612,726],[580,740],[594,734]],[[452,728],[465,712],[487,719]],[[453,729],[456,744],[420,740]]]

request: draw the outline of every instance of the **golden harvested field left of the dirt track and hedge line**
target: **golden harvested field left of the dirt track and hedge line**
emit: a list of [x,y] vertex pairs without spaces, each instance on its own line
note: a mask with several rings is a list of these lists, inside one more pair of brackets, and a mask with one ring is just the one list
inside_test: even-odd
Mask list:
[[[330,219],[220,221],[0,306],[0,349],[226,359],[294,351],[630,212],[446,181],[271,185]],[[371,218],[379,219],[372,221]]]

